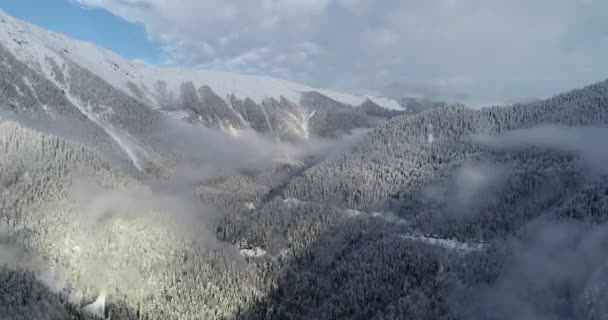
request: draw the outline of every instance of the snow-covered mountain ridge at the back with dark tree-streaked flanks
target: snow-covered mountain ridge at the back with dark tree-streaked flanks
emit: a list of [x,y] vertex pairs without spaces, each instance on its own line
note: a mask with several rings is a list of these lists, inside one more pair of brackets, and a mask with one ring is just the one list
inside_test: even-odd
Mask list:
[[0,98],[11,109],[80,113],[118,127],[132,126],[140,113],[150,118],[150,110],[160,110],[208,127],[308,138],[369,127],[377,117],[406,111],[394,99],[276,78],[133,64],[1,11],[0,54]]

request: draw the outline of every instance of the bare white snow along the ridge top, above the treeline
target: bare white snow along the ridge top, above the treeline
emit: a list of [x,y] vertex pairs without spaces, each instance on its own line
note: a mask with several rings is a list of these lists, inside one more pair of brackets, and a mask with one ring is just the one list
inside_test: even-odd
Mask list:
[[[239,99],[250,98],[256,103],[261,103],[266,98],[280,100],[281,97],[299,103],[302,92],[316,91],[352,106],[360,106],[365,100],[370,99],[379,106],[391,110],[403,110],[403,107],[393,99],[320,90],[271,77],[135,65],[108,50],[43,30],[12,18],[1,10],[0,43],[28,65],[39,65],[49,77],[52,75],[52,70],[46,63],[47,57],[55,59],[59,65],[69,59],[99,76],[114,88],[153,105],[158,105],[155,93],[158,81],[165,81],[170,91],[174,93],[179,92],[182,83],[191,81],[196,87],[203,85],[211,87],[221,97],[234,94]],[[129,83],[131,86],[136,85],[141,94],[136,94],[129,87]]]

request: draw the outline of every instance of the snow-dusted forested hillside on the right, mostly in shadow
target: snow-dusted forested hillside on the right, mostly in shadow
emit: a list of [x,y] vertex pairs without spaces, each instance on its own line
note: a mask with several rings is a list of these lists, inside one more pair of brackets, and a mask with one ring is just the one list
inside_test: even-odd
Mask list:
[[317,240],[270,304],[302,319],[605,317],[607,158],[592,150],[608,133],[607,93],[603,82],[398,117],[306,170],[285,197],[354,209],[357,222]]

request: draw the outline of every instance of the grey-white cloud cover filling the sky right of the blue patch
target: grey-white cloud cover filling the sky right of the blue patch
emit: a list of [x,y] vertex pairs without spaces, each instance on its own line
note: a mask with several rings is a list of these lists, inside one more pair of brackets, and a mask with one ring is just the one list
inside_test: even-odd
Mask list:
[[143,24],[173,61],[465,102],[608,76],[604,0],[76,0]]

